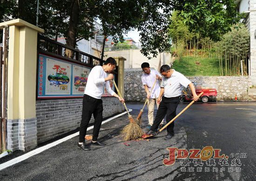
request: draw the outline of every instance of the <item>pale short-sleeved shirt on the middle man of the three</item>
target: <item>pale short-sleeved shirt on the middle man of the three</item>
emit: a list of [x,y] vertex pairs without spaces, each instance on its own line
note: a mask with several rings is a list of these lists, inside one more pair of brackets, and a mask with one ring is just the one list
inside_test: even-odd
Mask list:
[[[161,88],[159,86],[159,80],[157,80],[155,82],[155,75],[162,77],[162,75],[158,71],[151,70],[151,69],[150,69],[150,74],[144,73],[141,76],[142,84],[148,86],[148,90],[150,91],[150,98],[152,98],[152,99],[157,98],[158,95],[160,94],[160,90],[161,90]],[[154,82],[155,82],[155,86],[154,86],[153,90],[151,91],[151,88],[153,87]]]

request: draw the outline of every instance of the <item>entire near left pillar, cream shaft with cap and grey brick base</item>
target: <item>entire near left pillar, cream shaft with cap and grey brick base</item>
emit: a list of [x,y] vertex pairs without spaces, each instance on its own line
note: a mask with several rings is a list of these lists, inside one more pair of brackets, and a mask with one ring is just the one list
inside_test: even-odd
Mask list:
[[0,23],[8,26],[7,149],[37,146],[36,65],[37,34],[44,30],[24,20]]

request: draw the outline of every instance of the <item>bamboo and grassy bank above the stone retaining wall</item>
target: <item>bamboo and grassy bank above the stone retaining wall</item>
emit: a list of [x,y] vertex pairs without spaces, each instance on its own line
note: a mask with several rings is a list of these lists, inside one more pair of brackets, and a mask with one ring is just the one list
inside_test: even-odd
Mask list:
[[[187,76],[239,76],[249,74],[250,35],[244,24],[236,24],[221,40],[189,29],[174,11],[169,26],[173,67]],[[211,29],[207,29],[211,32]]]

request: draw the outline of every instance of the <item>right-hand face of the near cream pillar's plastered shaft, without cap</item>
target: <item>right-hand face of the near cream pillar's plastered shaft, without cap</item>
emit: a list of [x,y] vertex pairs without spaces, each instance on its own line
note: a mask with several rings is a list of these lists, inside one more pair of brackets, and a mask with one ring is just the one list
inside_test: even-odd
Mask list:
[[20,27],[20,118],[35,117],[37,31]]

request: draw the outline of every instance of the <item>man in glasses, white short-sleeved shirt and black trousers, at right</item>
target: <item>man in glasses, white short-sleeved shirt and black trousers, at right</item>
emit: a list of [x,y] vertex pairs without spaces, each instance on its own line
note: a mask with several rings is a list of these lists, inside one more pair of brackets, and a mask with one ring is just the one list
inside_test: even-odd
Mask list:
[[[171,121],[176,116],[176,108],[180,102],[180,95],[182,94],[182,87],[190,87],[194,101],[198,101],[198,96],[195,93],[193,83],[188,80],[183,74],[171,69],[168,65],[163,65],[160,69],[163,76],[161,82],[161,91],[156,100],[160,103],[155,121],[147,134],[157,134],[157,128],[166,115],[166,122]],[[162,96],[163,95],[163,96]],[[161,101],[162,98],[162,101]],[[165,140],[169,140],[174,135],[174,122],[167,127],[167,136]]]

